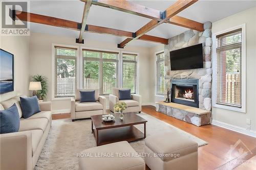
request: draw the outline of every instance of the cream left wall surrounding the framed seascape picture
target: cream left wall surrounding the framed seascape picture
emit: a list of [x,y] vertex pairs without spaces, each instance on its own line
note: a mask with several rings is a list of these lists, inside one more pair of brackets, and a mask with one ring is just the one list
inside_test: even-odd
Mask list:
[[29,36],[1,36],[1,48],[14,55],[14,91],[1,94],[0,101],[29,94],[29,39]]

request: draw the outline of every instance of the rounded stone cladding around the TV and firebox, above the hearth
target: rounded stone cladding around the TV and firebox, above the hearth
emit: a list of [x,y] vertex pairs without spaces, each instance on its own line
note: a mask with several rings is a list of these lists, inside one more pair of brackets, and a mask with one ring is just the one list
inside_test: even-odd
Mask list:
[[[199,43],[203,43],[204,68],[177,71],[170,69],[170,51]],[[188,30],[170,38],[168,45],[164,45],[165,89],[170,88],[170,79],[199,79],[199,108],[205,110],[211,110],[211,46],[211,22],[209,21],[204,23],[203,32]]]

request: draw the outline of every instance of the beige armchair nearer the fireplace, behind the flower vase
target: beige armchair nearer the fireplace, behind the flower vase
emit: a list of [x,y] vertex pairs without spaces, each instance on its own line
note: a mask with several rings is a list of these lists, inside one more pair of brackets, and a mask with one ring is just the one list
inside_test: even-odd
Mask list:
[[141,112],[141,95],[139,94],[131,94],[132,100],[119,100],[119,90],[128,89],[128,88],[112,88],[112,94],[110,94],[110,111],[114,111],[114,106],[117,102],[125,102],[127,108],[124,110],[125,112]]

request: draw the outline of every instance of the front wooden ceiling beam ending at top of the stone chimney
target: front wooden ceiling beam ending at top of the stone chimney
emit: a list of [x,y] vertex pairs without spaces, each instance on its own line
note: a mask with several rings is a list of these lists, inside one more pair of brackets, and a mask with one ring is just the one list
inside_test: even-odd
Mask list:
[[[87,2],[88,0],[81,0],[82,2]],[[161,21],[162,11],[148,8],[139,4],[132,3],[131,1],[126,0],[93,0],[93,5],[106,7],[150,19],[155,19]],[[176,26],[185,27],[197,31],[203,31],[203,23],[187,19],[181,16],[173,16],[175,18],[170,18],[169,20],[164,21],[165,23],[170,23]]]

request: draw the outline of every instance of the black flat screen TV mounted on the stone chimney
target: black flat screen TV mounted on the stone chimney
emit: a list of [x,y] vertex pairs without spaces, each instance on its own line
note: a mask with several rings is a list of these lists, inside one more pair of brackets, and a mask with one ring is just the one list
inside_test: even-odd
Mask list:
[[170,52],[170,69],[203,68],[203,44],[197,44]]

